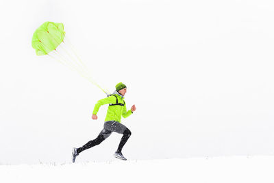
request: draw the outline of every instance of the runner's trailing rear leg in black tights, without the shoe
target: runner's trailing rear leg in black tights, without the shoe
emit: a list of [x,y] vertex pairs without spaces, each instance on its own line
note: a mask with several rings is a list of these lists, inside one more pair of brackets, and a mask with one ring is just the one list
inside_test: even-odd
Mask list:
[[99,136],[92,141],[89,141],[83,147],[77,148],[77,154],[81,153],[82,151],[89,149],[90,147],[94,147],[95,145],[99,145],[101,142],[105,141],[105,138],[108,138],[112,132],[110,130],[103,129]]

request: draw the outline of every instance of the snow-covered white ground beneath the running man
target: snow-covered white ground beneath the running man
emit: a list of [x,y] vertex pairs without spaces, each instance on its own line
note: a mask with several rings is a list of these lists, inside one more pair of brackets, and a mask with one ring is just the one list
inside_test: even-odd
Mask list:
[[274,182],[274,156],[0,166],[0,182]]

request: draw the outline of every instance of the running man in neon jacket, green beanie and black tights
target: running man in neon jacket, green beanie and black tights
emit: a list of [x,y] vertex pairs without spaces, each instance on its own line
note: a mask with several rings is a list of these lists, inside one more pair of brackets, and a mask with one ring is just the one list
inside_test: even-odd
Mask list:
[[112,132],[117,132],[123,134],[121,142],[117,151],[114,153],[114,157],[121,160],[127,160],[123,154],[122,149],[125,143],[127,142],[129,136],[132,132],[123,124],[121,124],[121,117],[129,117],[135,110],[135,105],[132,106],[131,110],[127,110],[125,106],[124,96],[127,92],[127,86],[123,83],[116,84],[116,90],[112,95],[109,95],[105,99],[97,101],[95,108],[92,112],[92,119],[96,120],[97,112],[99,108],[104,104],[109,104],[107,116],[105,117],[105,123],[103,124],[103,130],[100,132],[99,136],[92,141],[89,141],[85,145],[79,148],[73,148],[72,160],[75,162],[76,156],[78,156],[82,151],[99,145],[101,142],[108,138]]

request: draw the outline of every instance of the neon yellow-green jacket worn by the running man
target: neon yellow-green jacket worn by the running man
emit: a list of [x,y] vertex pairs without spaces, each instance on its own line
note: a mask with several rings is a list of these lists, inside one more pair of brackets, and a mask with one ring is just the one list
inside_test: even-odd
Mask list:
[[[99,108],[102,105],[111,104],[111,103],[115,104],[116,99],[118,99],[118,103],[122,103],[122,104],[125,103],[123,96],[115,91],[114,94],[111,95],[110,97],[106,97],[105,99],[101,99],[97,101],[92,114],[97,114]],[[119,123],[121,123],[122,116],[123,118],[126,118],[126,117],[129,117],[131,114],[132,114],[132,110],[127,110],[127,107],[125,105],[124,106],[120,106],[120,105],[108,106],[108,112],[107,112],[107,116],[105,117],[105,121],[118,121]]]

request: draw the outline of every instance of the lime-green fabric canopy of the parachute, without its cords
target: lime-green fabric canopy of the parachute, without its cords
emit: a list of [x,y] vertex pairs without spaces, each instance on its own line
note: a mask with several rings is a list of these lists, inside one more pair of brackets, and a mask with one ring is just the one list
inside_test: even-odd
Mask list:
[[62,23],[45,22],[34,32],[32,47],[38,56],[47,55],[61,44],[64,36],[64,25]]

